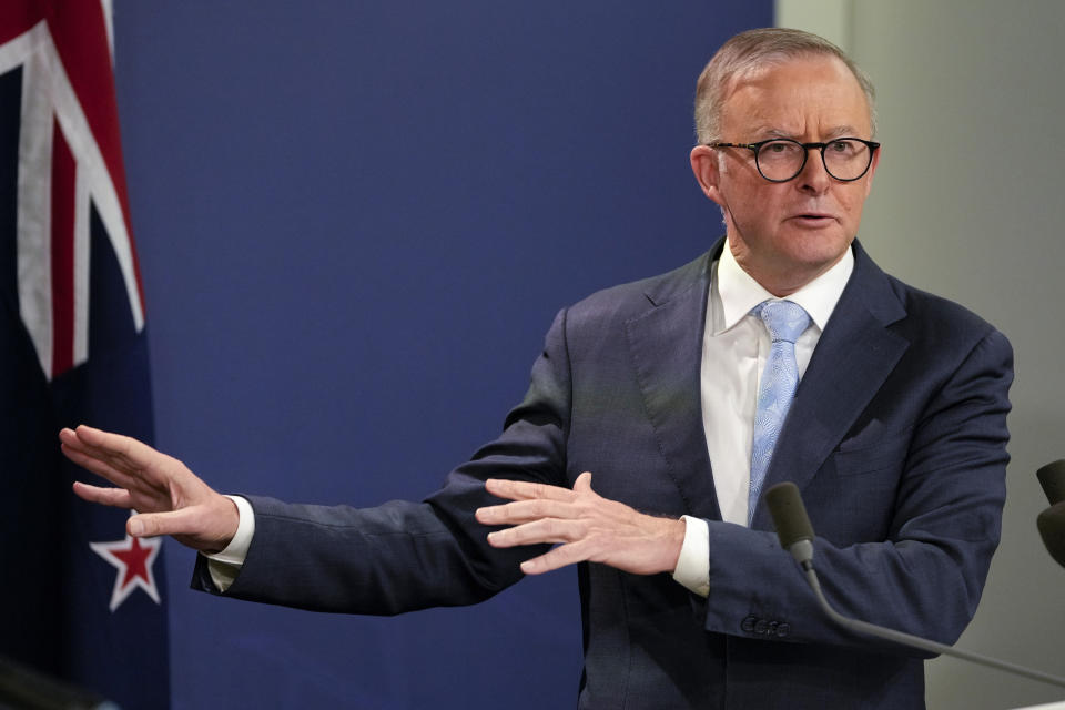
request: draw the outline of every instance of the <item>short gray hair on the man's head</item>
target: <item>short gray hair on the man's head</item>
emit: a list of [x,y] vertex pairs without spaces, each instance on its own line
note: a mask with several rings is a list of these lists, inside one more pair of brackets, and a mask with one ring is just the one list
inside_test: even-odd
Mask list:
[[714,53],[696,84],[696,139],[700,144],[722,140],[721,109],[726,94],[737,81],[764,67],[800,57],[824,54],[840,59],[854,74],[865,93],[873,136],[876,135],[873,82],[846,53],[829,40],[787,28],[763,28],[740,32]]

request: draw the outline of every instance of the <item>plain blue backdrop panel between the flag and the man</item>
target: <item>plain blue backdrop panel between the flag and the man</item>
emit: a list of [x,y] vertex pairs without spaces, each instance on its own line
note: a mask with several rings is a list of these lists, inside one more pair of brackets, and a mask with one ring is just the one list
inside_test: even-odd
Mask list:
[[[694,79],[771,2],[115,3],[156,440],[225,491],[419,498],[555,312],[706,250]],[[175,708],[565,708],[572,570],[394,619],[193,594]]]

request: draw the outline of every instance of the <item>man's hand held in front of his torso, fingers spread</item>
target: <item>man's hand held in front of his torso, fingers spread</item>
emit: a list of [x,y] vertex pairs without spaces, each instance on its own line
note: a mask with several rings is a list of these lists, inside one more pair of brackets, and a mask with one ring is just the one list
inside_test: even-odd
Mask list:
[[638,513],[591,489],[584,473],[574,489],[521,480],[489,479],[485,488],[514,503],[477,510],[485,525],[513,525],[488,535],[493,547],[558,544],[521,562],[526,575],[539,575],[576,562],[604,562],[636,575],[671,572],[684,542],[686,524]]

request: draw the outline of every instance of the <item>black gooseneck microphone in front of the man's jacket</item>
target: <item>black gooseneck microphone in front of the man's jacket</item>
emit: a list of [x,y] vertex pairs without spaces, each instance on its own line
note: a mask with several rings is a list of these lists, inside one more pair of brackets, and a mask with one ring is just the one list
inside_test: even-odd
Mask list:
[[[1065,471],[1065,462],[1062,463],[1062,470]],[[1063,487],[1063,490],[1065,490],[1065,487]],[[769,506],[770,515],[773,517],[773,525],[777,528],[777,536],[780,538],[780,546],[791,552],[791,556],[794,557],[795,561],[802,567],[807,575],[807,582],[810,585],[810,588],[813,589],[813,594],[816,596],[821,609],[839,626],[851,631],[856,631],[858,633],[917,648],[930,653],[953,656],[973,663],[981,663],[982,666],[997,668],[998,670],[1004,670],[1010,673],[1065,688],[1065,678],[1058,678],[1057,676],[1032,670],[1014,663],[1007,663],[1006,661],[1000,661],[971,651],[963,651],[952,646],[946,646],[945,643],[923,639],[920,636],[904,633],[843,616],[833,609],[829,600],[824,598],[824,592],[821,590],[821,580],[818,579],[818,572],[813,568],[813,526],[810,525],[810,517],[807,515],[807,507],[802,504],[802,496],[799,495],[799,488],[790,480],[777,484],[765,491],[765,503]]]

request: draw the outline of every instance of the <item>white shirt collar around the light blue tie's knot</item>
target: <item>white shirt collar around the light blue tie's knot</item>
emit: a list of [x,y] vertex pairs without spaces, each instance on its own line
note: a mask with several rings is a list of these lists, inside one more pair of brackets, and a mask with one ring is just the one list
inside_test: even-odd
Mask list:
[[[843,258],[836,262],[832,268],[789,295],[788,301],[802,306],[810,314],[813,324],[819,329],[824,331],[824,326],[829,322],[832,311],[835,310],[835,304],[840,301],[843,288],[853,271],[854,253],[848,248]],[[721,310],[713,310],[716,316],[713,323],[714,335],[734,326],[762,301],[777,297],[765,291],[760,283],[740,267],[732,255],[728,241],[726,241],[721,257],[718,260],[717,276],[713,285],[720,298]]]

